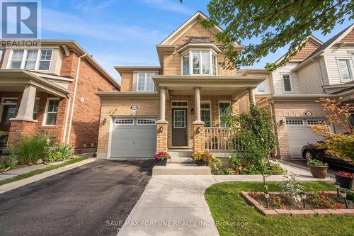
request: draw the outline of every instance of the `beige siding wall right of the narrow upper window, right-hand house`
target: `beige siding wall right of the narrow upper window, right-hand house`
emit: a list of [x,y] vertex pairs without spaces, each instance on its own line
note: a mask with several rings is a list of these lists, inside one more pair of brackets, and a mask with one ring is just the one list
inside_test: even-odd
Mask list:
[[297,75],[301,94],[324,94],[319,60],[299,69]]

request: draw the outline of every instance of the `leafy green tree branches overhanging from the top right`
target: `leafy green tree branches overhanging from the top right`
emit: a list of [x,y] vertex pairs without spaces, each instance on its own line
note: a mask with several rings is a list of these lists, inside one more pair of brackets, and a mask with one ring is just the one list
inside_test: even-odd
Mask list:
[[[269,53],[289,45],[289,50],[277,64],[268,64],[267,69],[282,67],[297,50],[304,47],[305,40],[314,31],[326,35],[343,23],[345,16],[354,18],[354,1],[343,0],[212,0],[207,5],[210,20],[204,26],[226,26],[217,33],[227,61],[221,65],[227,69],[248,67]],[[251,40],[241,52],[235,50],[234,42]]]

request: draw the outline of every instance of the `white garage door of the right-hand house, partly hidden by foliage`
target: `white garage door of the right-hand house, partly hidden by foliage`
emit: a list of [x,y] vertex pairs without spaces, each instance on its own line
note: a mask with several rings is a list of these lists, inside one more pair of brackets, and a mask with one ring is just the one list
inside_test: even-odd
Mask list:
[[325,124],[323,119],[287,119],[287,137],[291,157],[301,157],[301,149],[304,145],[323,140],[316,136],[308,125]]

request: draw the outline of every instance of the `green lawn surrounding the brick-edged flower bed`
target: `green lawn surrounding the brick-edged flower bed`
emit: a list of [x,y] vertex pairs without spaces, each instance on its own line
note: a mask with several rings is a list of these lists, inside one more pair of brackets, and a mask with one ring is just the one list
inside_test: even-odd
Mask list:
[[[334,191],[325,182],[303,183],[306,191]],[[270,183],[270,191],[280,191],[280,183]],[[227,182],[214,184],[205,191],[205,199],[215,222],[236,226],[217,226],[220,235],[354,235],[354,217],[293,216],[265,217],[241,197],[241,191],[264,191],[262,183]],[[246,226],[237,226],[243,224]]]

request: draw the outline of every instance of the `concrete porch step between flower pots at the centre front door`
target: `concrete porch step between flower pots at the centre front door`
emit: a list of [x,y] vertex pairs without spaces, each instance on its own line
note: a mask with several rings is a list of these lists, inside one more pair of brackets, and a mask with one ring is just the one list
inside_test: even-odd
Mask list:
[[155,166],[152,175],[210,175],[209,167],[196,164],[167,163],[166,166]]

